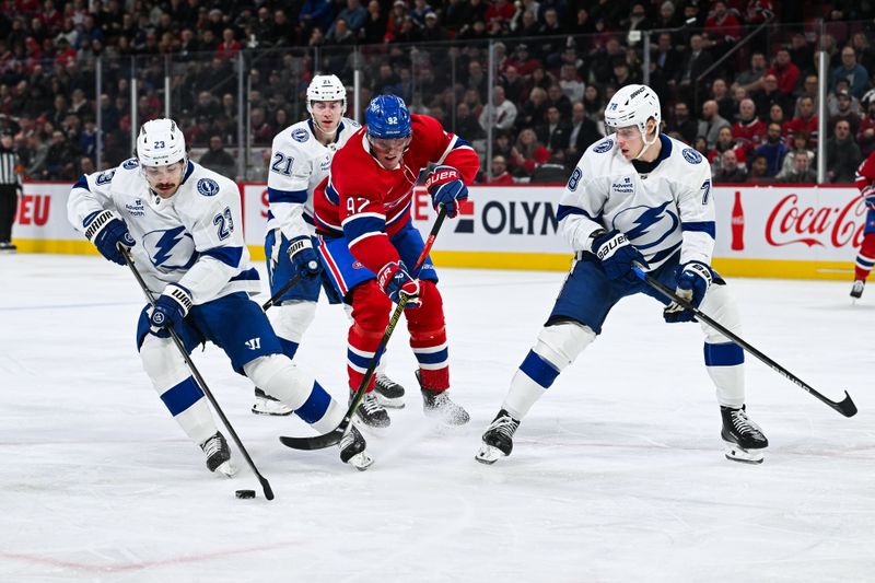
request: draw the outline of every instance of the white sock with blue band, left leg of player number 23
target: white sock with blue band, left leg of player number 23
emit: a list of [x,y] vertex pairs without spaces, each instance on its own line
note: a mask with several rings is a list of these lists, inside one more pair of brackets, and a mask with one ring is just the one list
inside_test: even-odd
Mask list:
[[191,441],[200,445],[212,436],[217,428],[207,398],[173,340],[148,334],[140,359],[164,406]]

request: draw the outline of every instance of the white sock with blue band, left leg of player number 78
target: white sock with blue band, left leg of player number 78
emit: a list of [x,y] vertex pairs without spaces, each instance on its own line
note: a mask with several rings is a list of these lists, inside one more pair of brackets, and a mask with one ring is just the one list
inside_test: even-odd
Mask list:
[[535,347],[514,374],[502,408],[514,419],[522,420],[559,373],[593,340],[595,333],[581,324],[565,322],[544,327]]

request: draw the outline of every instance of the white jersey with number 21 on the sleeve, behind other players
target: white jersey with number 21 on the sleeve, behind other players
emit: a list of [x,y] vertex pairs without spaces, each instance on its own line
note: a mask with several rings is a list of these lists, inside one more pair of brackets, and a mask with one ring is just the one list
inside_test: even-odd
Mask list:
[[273,138],[267,196],[267,230],[280,229],[285,238],[312,235],[313,190],[328,176],[331,159],[361,126],[343,117],[335,141],[327,147],[316,139],[313,120],[285,128]]

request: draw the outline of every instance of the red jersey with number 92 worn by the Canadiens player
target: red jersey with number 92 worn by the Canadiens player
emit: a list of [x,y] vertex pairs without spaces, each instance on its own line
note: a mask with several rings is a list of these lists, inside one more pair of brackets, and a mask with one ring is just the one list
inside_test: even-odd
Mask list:
[[410,116],[412,140],[395,170],[371,154],[366,127],[337,151],[328,177],[313,195],[316,229],[326,236],[345,236],[352,255],[375,273],[399,259],[389,238],[410,223],[413,186],[429,163],[453,166],[466,185],[480,161],[470,144],[444,131],[440,121]]

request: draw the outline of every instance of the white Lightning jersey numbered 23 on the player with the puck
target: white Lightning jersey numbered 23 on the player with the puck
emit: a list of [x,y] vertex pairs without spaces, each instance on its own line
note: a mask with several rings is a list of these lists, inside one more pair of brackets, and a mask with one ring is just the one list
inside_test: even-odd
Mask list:
[[202,304],[260,291],[243,241],[240,188],[221,174],[188,162],[179,189],[162,199],[149,188],[137,159],[130,159],[73,186],[67,213],[78,231],[104,209],[127,223],[137,242],[135,264],[153,293],[179,283],[191,291],[195,304]]

